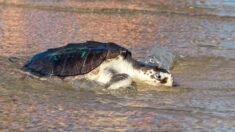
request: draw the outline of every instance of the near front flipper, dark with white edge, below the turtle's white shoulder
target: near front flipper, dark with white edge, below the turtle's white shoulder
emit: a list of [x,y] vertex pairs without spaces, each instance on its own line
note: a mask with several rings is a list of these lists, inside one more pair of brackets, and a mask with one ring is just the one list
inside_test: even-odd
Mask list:
[[127,74],[114,74],[106,84],[107,89],[115,90],[120,88],[132,87],[132,79]]

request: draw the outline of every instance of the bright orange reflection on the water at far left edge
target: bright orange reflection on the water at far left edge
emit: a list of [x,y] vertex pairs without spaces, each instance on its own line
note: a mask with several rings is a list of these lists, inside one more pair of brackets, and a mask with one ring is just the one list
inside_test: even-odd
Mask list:
[[[24,33],[24,23],[22,19],[22,9],[4,8],[0,14],[1,31],[0,37],[2,54],[25,53],[26,36]],[[10,49],[10,50],[9,50]]]

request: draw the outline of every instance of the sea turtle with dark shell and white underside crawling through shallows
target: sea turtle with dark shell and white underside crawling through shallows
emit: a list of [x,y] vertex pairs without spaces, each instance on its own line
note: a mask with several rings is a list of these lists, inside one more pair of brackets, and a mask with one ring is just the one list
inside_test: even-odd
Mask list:
[[44,77],[83,76],[108,89],[128,87],[134,81],[173,85],[167,70],[137,61],[128,49],[111,42],[87,41],[48,49],[33,56],[23,69]]

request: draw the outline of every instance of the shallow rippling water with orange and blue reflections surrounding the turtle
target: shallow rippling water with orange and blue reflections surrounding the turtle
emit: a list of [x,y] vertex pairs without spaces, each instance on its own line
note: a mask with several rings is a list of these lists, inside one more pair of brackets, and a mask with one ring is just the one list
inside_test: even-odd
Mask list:
[[[225,0],[0,0],[0,130],[235,131],[232,7]],[[139,60],[154,46],[168,48],[178,56],[179,86],[140,84],[116,94],[20,70],[37,52],[86,40],[119,43]]]

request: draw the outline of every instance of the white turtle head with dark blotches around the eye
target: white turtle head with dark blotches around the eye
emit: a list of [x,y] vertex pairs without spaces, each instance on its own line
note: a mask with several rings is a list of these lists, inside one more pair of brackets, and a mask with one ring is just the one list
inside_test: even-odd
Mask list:
[[144,71],[145,82],[150,85],[173,86],[173,76],[165,69],[149,67]]

